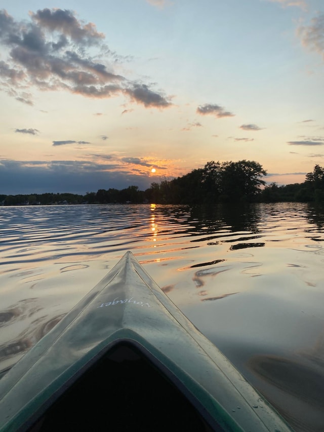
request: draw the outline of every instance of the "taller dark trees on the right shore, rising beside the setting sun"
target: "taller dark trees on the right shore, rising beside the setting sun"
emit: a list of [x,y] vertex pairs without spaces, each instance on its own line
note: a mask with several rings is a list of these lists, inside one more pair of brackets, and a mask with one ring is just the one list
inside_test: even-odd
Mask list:
[[152,183],[150,199],[156,203],[215,204],[316,202],[324,203],[324,168],[315,165],[303,183],[266,185],[266,171],[254,161],[215,163],[173,179]]

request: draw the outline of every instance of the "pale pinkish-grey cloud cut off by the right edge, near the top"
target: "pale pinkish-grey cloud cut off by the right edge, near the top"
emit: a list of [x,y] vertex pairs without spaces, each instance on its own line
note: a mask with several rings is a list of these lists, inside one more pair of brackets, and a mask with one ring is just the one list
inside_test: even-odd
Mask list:
[[310,51],[315,51],[324,58],[324,14],[311,20],[308,26],[299,26],[297,35],[302,45]]

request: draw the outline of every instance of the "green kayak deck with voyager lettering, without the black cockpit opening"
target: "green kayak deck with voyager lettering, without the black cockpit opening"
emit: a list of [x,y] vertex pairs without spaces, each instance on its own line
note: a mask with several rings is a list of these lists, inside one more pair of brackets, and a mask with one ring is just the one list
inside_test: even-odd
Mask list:
[[[51,407],[118,350],[119,356],[133,352],[158,371],[184,395],[206,430],[291,430],[131,252],[1,379],[0,430],[41,424]],[[102,376],[107,393],[109,376],[109,370]],[[147,414],[144,409],[141,415]]]

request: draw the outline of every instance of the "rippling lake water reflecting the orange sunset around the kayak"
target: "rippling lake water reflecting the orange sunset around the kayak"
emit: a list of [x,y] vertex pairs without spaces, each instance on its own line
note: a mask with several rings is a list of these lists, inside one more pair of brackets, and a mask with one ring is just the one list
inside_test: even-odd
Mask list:
[[324,430],[324,211],[0,207],[0,372],[131,250],[299,431]]

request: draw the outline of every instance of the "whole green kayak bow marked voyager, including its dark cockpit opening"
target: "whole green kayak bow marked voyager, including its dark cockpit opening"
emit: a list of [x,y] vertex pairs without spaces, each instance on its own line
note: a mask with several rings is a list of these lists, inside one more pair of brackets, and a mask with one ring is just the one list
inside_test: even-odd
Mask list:
[[131,252],[0,380],[0,430],[291,431]]

